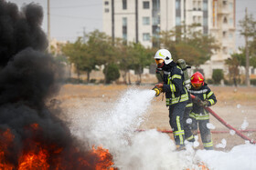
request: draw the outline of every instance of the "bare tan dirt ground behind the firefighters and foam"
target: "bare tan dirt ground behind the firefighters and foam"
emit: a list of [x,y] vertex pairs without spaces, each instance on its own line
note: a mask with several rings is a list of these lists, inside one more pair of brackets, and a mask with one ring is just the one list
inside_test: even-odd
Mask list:
[[[60,101],[60,107],[65,111],[75,107],[80,100],[85,110],[95,108],[111,107],[120,97],[120,94],[128,85],[63,85],[59,95],[54,98]],[[134,86],[141,89],[152,89],[153,85]],[[213,86],[209,85],[215,93],[218,103],[211,107],[229,125],[240,129],[242,125],[248,123],[246,129],[256,129],[256,87],[234,86]],[[228,131],[223,134],[213,134],[214,145],[220,144],[222,139],[226,139],[227,146],[219,150],[229,151],[234,145],[245,143],[238,135],[230,135],[229,129],[220,124],[219,121],[210,116],[210,123],[215,126],[212,131]],[[165,107],[165,98],[162,95],[155,98],[146,113],[146,119],[140,129],[171,130],[168,123],[168,109]],[[256,132],[243,133],[256,140]],[[172,135],[170,135],[172,138]],[[199,140],[200,142],[200,140]]]

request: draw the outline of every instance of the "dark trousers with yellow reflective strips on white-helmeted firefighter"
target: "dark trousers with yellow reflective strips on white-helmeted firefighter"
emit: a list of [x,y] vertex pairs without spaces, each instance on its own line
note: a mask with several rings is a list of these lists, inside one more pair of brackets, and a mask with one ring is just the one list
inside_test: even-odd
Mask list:
[[176,145],[184,146],[185,133],[183,125],[183,117],[187,101],[179,102],[169,106],[169,124],[173,129]]

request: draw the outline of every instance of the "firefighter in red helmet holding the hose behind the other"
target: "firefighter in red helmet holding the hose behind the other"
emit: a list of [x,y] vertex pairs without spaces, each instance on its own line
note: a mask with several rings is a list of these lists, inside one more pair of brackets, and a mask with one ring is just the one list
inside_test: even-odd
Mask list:
[[204,76],[199,72],[196,72],[191,76],[191,89],[189,90],[191,95],[196,97],[193,99],[193,109],[189,114],[192,119],[192,133],[187,138],[188,141],[194,141],[194,136],[197,135],[197,125],[202,139],[204,148],[207,150],[213,149],[213,142],[211,138],[210,129],[208,129],[209,113],[204,107],[215,105],[217,100],[216,96],[210,90],[208,85],[204,82]]

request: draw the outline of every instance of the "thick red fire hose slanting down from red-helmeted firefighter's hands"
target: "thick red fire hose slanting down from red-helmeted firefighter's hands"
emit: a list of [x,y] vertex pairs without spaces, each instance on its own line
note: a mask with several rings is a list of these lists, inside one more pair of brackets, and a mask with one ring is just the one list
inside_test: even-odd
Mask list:
[[[191,95],[191,98],[194,99],[195,95]],[[251,144],[256,144],[256,142],[252,139],[250,139],[249,137],[247,137],[246,135],[241,134],[241,132],[239,130],[237,130],[236,128],[234,128],[233,126],[229,125],[227,122],[225,122],[221,117],[219,117],[219,115],[217,115],[213,110],[211,110],[209,107],[205,107],[205,109],[211,114],[213,115],[217,120],[219,120],[219,122],[222,125],[225,125],[226,127],[228,127],[230,130],[233,130],[236,132],[236,135],[239,135],[241,138],[243,138],[244,140],[248,140],[250,141]]]

